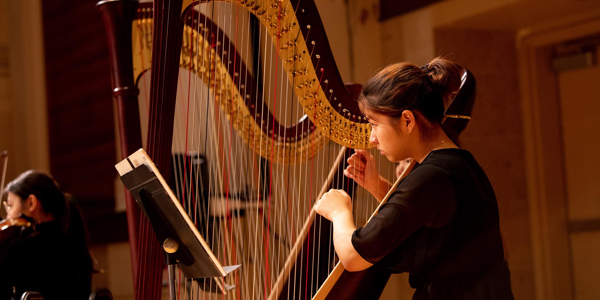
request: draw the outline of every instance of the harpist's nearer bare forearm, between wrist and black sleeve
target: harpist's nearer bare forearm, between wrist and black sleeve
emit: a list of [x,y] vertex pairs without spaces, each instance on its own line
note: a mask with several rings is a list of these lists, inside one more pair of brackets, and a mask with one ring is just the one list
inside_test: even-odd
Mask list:
[[356,230],[352,212],[339,212],[333,215],[334,247],[341,263],[348,271],[361,271],[371,266],[352,245],[352,234]]

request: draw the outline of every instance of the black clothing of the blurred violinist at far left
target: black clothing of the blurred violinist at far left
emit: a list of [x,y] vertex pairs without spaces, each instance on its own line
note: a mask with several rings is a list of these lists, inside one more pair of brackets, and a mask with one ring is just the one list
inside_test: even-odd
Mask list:
[[40,292],[44,300],[88,299],[91,271],[85,243],[70,241],[56,221],[41,223],[0,256],[0,300],[20,299],[27,291]]

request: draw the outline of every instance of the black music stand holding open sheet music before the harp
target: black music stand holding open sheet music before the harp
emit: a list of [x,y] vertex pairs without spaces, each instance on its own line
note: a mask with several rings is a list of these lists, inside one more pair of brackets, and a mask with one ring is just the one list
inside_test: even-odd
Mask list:
[[[163,176],[143,149],[116,164],[121,181],[131,191],[163,245],[169,270],[169,294],[175,296],[175,265],[187,278],[224,277],[241,265],[221,266]],[[235,286],[215,280],[223,293]],[[175,298],[171,298],[175,299]]]

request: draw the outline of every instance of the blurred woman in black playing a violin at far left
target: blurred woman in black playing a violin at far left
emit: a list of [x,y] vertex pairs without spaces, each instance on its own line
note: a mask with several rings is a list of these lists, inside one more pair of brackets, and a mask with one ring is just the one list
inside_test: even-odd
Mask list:
[[45,300],[88,299],[92,259],[82,215],[70,197],[35,170],[8,183],[2,196],[7,219],[23,217],[34,229],[3,238],[0,300],[20,299],[27,291]]

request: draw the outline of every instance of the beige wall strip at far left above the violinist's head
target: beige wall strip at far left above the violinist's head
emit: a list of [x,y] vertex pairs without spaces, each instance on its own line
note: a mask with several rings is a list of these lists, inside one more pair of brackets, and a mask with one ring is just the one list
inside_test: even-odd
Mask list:
[[39,1],[0,1],[0,149],[7,181],[49,170],[46,87]]

